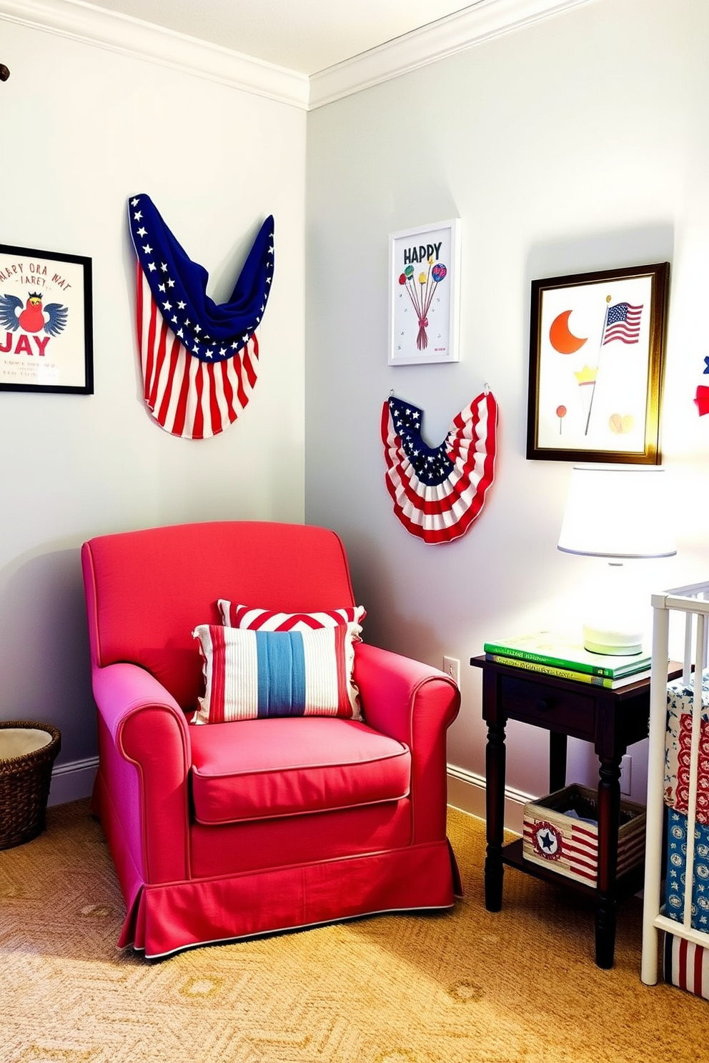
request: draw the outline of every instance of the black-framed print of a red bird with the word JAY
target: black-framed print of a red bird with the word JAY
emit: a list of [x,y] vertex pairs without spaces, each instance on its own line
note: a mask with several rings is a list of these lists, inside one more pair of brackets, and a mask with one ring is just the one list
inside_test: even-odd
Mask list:
[[94,394],[90,258],[0,243],[0,391]]

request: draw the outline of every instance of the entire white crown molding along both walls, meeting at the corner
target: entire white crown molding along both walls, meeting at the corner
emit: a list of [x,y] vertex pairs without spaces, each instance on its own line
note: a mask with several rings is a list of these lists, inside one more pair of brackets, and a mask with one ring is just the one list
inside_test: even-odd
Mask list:
[[287,103],[324,106],[594,0],[477,0],[469,7],[311,77],[84,0],[0,0],[0,20],[147,60]]

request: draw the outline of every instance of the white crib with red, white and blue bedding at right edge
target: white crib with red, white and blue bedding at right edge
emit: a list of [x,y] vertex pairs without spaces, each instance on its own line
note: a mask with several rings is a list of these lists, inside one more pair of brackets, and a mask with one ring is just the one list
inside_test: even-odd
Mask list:
[[[653,607],[641,977],[657,981],[663,930],[664,980],[709,999],[709,583],[653,595]],[[682,676],[668,682],[673,632],[685,627]]]

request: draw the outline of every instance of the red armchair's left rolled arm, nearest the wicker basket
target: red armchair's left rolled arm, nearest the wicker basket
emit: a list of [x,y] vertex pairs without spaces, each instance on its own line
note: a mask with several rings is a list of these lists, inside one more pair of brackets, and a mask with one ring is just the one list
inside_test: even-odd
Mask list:
[[[148,882],[185,878],[191,764],[185,714],[137,664],[95,668],[92,681],[103,792],[114,803],[133,862]],[[133,799],[121,803],[121,794]]]

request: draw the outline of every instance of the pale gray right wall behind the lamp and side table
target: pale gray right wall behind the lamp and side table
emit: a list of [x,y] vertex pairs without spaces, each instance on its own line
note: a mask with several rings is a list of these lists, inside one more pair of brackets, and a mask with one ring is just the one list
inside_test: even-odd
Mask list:
[[[368,639],[438,667],[460,659],[449,760],[476,775],[469,658],[490,637],[578,624],[597,573],[556,550],[569,463],[525,459],[533,279],[671,261],[663,452],[679,554],[637,574],[658,590],[709,569],[709,417],[692,402],[709,379],[709,5],[641,6],[596,0],[308,116],[306,520],[342,534]],[[461,360],[390,368],[388,234],[450,217],[462,231]],[[486,382],[500,404],[495,482],[462,539],[425,545],[385,489],[382,404],[393,389],[423,407],[438,443]],[[509,730],[508,782],[544,793],[544,735]],[[572,777],[594,764],[574,745]]]

